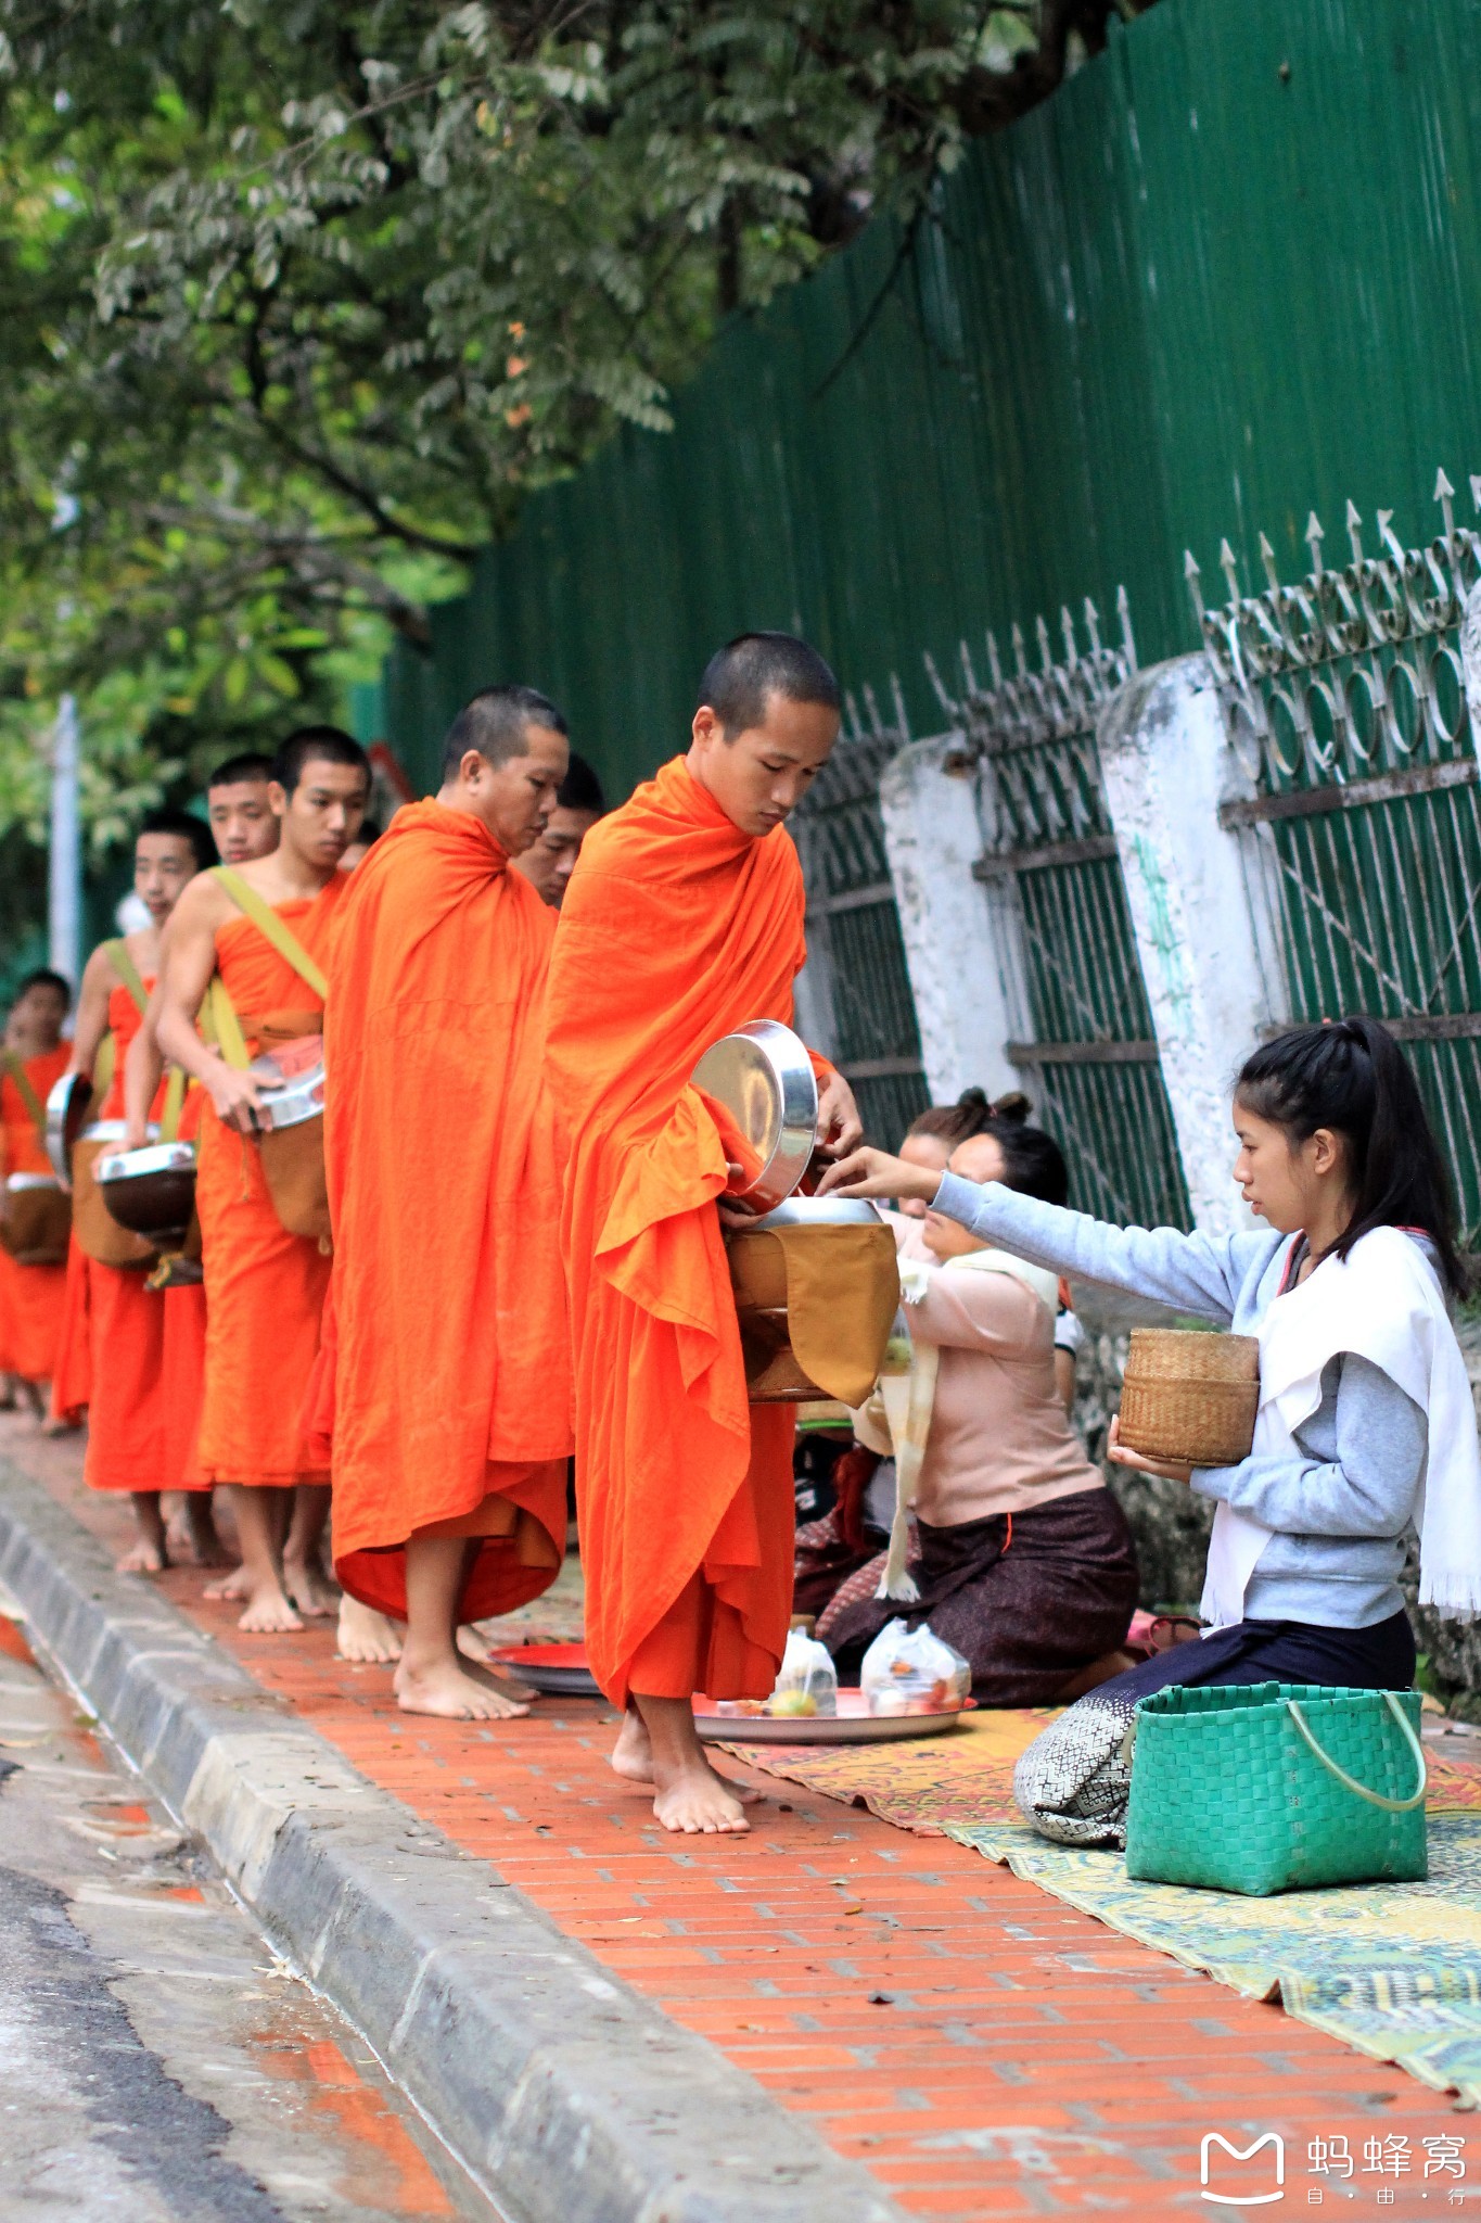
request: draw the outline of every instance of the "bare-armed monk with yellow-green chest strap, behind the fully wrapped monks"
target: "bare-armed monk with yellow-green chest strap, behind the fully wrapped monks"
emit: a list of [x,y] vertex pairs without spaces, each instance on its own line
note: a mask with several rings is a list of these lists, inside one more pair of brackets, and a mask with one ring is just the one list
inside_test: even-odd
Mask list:
[[[278,751],[269,796],[280,840],[271,856],[235,869],[249,896],[275,914],[293,943],[284,956],[215,871],[202,874],[171,920],[160,1049],[209,1096],[200,1127],[195,1212],[206,1283],[206,1385],[198,1458],[209,1483],[233,1492],[246,1607],[244,1629],[298,1629],[284,1589],[289,1492],[329,1478],[304,1458],[300,1416],[320,1343],[329,1245],[289,1234],[273,1209],[251,1140],[260,1083],[209,1049],[195,1031],[206,989],[220,980],[249,1056],[324,1029],[322,980],[340,903],[351,887],[340,858],[355,838],[371,787],[364,749],[335,727],[304,727]],[[318,983],[318,985],[315,985]],[[329,1594],[300,1589],[309,1612]]]

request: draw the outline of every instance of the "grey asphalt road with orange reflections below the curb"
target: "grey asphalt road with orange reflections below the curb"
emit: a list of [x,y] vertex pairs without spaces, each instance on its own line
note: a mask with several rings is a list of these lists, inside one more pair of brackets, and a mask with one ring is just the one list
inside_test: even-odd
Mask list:
[[493,2223],[0,1618],[2,2223],[409,2216]]

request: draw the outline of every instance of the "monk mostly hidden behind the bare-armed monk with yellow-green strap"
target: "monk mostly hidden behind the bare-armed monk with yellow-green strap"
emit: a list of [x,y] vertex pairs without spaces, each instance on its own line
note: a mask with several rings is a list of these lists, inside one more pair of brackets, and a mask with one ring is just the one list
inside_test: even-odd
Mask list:
[[[244,865],[253,856],[271,856],[278,847],[278,820],[269,800],[273,780],[271,756],[229,756],[206,780],[206,818],[211,840],[222,865]],[[206,860],[209,863],[209,860]],[[169,934],[164,929],[162,947]],[[124,1125],[127,1147],[140,1149],[147,1140],[147,1123],[155,1116],[155,1100],[164,1074],[164,1058],[155,1040],[160,1018],[158,985],[151,989],[144,1018],[129,1043],[124,1056]],[[184,1100],[180,1116],[180,1140],[193,1143],[200,1136],[202,1091],[198,1083]],[[71,1260],[69,1260],[71,1287]],[[164,1489],[184,1492],[187,1541],[200,1567],[229,1565],[215,1521],[211,1516],[211,1487],[195,1458],[200,1434],[200,1407],[206,1387],[206,1292],[202,1283],[171,1283],[162,1292],[164,1325],[160,1352],[160,1405],[164,1416]],[[53,1409],[60,1394],[53,1387]],[[87,1398],[82,1398],[87,1403]],[[175,1527],[167,1523],[171,1549],[180,1547]],[[293,1589],[293,1541],[284,1545],[284,1574]],[[226,1594],[229,1585],[213,1585],[211,1596]],[[231,1594],[238,1594],[233,1578]],[[242,1589],[244,1594],[244,1589]]]

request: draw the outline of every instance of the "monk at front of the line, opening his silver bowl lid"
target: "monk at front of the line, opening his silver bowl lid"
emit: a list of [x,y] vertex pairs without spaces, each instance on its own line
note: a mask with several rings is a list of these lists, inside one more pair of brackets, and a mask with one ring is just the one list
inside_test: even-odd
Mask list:
[[[655,1785],[668,1830],[746,1827],[691,1694],[770,1694],[795,1527],[793,1416],[746,1403],[722,1243],[717,1198],[744,1178],[688,1076],[722,1034],[793,1016],[804,889],[782,820],[837,727],[837,682],[804,642],[722,649],[688,756],[586,836],[551,960],[586,1647],[628,1709],[613,1765]],[[815,1065],[844,1149],[853,1096]]]

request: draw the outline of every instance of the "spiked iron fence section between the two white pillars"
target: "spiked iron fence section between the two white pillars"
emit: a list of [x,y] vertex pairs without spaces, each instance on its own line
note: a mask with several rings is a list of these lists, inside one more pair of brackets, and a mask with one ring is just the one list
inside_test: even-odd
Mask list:
[[1055,662],[1039,618],[1039,669],[1012,629],[1012,676],[988,634],[990,685],[961,647],[957,702],[928,665],[941,707],[977,756],[984,854],[977,878],[995,911],[993,940],[1024,1071],[1070,1167],[1081,1212],[1144,1227],[1190,1227],[1172,1109],[1106,807],[1095,720],[1135,671],[1121,596],[1121,645],[1101,647],[1086,602],[1088,647],[1061,611]]

